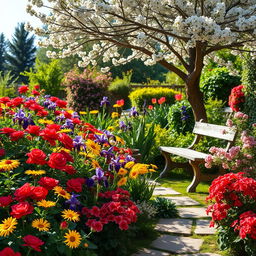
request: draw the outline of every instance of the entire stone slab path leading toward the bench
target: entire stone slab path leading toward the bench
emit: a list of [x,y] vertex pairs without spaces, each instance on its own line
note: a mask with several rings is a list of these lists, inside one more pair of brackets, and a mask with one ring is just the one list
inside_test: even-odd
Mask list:
[[[209,227],[210,218],[205,212],[205,207],[200,207],[200,203],[197,201],[182,196],[171,188],[158,186],[153,195],[174,202],[178,206],[180,218],[159,219],[155,229],[161,235],[152,242],[150,248],[144,248],[133,256],[220,256],[215,253],[200,253],[203,238],[191,237],[193,234],[212,235],[216,232],[214,228]],[[193,228],[193,226],[195,227]]]

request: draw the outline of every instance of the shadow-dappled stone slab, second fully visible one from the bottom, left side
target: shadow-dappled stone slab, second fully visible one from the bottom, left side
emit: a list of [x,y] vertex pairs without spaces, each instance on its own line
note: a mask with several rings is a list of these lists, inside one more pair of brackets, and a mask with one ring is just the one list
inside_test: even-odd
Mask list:
[[187,219],[159,219],[155,229],[162,232],[190,235],[192,222]]

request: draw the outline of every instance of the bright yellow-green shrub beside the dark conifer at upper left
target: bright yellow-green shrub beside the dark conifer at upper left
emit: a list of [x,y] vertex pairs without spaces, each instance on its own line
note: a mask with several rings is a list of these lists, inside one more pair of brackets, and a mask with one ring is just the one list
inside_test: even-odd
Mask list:
[[36,59],[35,70],[25,71],[22,75],[29,78],[31,85],[40,84],[46,94],[59,96],[61,84],[64,78],[58,60],[51,60],[49,63],[43,63]]

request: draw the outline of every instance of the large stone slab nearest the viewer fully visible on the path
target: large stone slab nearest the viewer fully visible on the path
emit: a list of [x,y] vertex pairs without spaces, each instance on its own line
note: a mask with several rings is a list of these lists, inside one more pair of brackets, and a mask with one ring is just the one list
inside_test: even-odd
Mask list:
[[153,241],[151,246],[173,253],[196,253],[199,252],[202,243],[202,239],[162,235]]

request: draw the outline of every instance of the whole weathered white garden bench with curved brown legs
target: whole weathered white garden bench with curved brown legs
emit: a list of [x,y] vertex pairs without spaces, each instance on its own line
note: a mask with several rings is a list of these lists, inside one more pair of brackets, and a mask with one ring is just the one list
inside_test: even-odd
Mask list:
[[[202,174],[200,171],[199,165],[204,163],[204,159],[208,154],[196,151],[193,149],[193,147],[199,142],[202,136],[208,136],[208,137],[226,140],[228,142],[226,146],[226,150],[228,150],[232,146],[235,140],[236,129],[233,127],[230,128],[228,126],[203,123],[200,121],[195,123],[193,133],[196,136],[193,143],[188,148],[164,147],[164,146],[161,146],[159,148],[161,150],[162,155],[165,158],[165,167],[160,174],[160,178],[164,177],[167,171],[172,170],[174,168],[187,168],[193,171],[194,177],[191,184],[187,187],[187,192],[195,192],[196,187],[200,183],[200,181],[202,180],[210,181],[224,172],[224,170],[220,168],[220,171],[218,174],[215,174],[215,175]],[[173,162],[170,155],[186,158],[188,162],[186,163]]]

